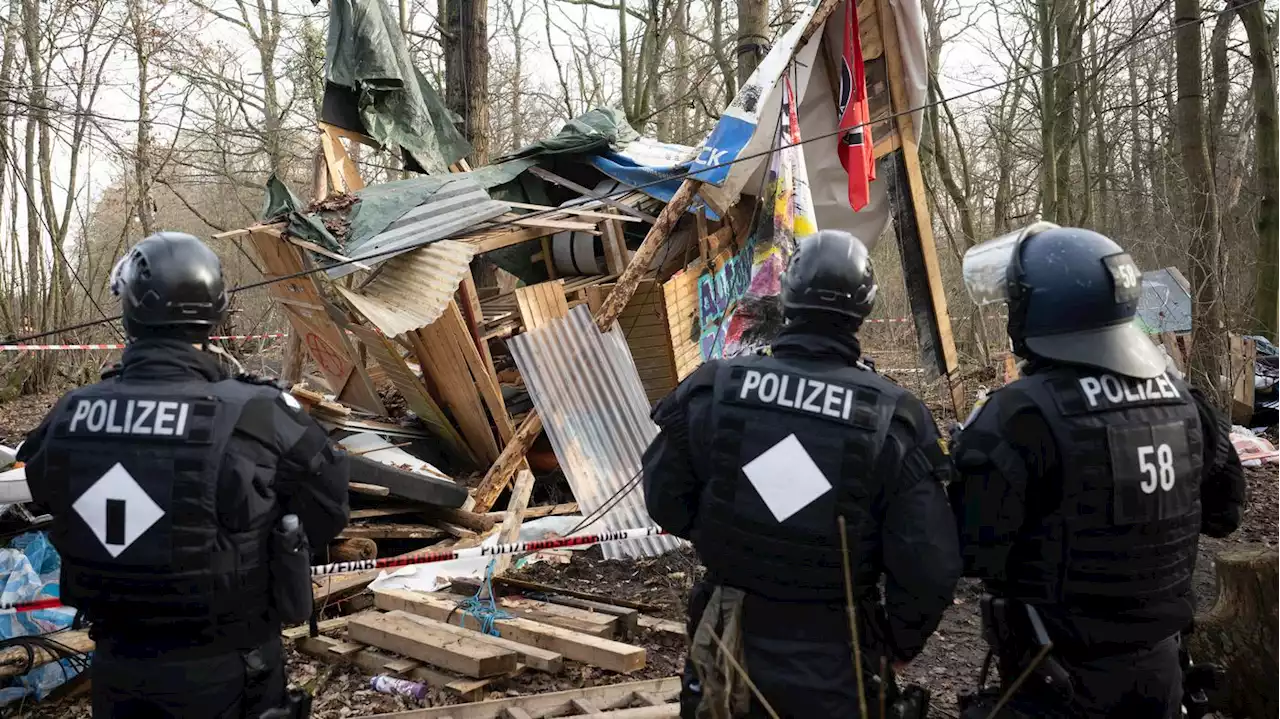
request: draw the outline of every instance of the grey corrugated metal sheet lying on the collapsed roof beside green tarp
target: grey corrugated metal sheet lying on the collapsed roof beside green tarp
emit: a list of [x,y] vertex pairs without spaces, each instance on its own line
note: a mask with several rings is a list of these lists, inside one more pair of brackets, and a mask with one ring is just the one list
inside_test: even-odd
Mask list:
[[[399,219],[387,225],[387,229],[375,234],[348,256],[360,260],[378,252],[420,246],[460,233],[509,211],[511,205],[489,197],[489,193],[474,179],[466,175],[451,177],[426,202],[401,215]],[[390,255],[383,255],[374,262],[381,262],[388,257]],[[355,265],[343,265],[328,270],[328,273],[330,278],[342,278],[356,270],[358,267]]]

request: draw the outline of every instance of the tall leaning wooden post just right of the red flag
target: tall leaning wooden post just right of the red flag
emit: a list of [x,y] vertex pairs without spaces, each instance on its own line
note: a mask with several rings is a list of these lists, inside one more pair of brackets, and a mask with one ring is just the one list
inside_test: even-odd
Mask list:
[[[955,338],[951,335],[951,317],[947,313],[946,289],[942,287],[942,273],[938,269],[938,249],[933,242],[933,225],[929,221],[928,191],[920,174],[920,156],[915,142],[911,120],[911,107],[906,97],[906,83],[902,81],[902,54],[897,40],[897,20],[890,0],[876,0],[877,17],[881,24],[881,40],[884,43],[884,61],[888,69],[890,97],[893,113],[897,114],[897,134],[902,143],[900,165],[893,174],[899,175],[896,188],[891,193],[902,193],[893,202],[893,224],[899,233],[899,249],[902,253],[904,270],[908,265],[923,266],[924,287],[913,287],[908,274],[908,294],[911,301],[911,313],[916,319],[916,335],[920,338],[920,351],[941,374],[951,391],[951,406],[956,416],[965,413],[964,384],[955,372],[959,367]],[[897,171],[904,170],[904,171]],[[905,174],[905,182],[901,175]],[[914,232],[913,232],[914,230]],[[914,262],[913,262],[914,261]],[[924,319],[928,325],[920,326]],[[928,357],[932,354],[932,357]]]

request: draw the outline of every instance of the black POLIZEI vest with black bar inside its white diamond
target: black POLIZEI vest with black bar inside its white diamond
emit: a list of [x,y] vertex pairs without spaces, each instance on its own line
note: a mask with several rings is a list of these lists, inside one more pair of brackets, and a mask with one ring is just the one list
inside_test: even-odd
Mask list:
[[[253,463],[228,455],[242,409],[264,391],[276,390],[108,380],[63,403],[44,477],[56,498],[61,597],[105,636],[204,646],[265,638],[278,512],[252,496]],[[220,522],[220,503],[238,518]]]

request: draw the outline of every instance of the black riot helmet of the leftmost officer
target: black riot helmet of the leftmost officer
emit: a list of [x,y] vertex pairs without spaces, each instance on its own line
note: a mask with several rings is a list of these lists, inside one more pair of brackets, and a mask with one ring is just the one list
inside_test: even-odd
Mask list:
[[205,342],[227,316],[223,265],[204,242],[160,232],[134,244],[111,270],[131,338]]

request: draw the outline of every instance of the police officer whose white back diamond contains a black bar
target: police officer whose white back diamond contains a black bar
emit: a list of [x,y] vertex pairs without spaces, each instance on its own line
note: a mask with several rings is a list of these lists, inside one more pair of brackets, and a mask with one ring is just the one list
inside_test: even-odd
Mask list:
[[305,715],[285,693],[280,620],[310,601],[303,537],[324,548],[347,523],[348,461],[292,395],[202,351],[228,306],[202,242],[143,239],[111,289],[122,363],[63,397],[19,452],[55,518],[61,599],[91,622],[93,715]]

